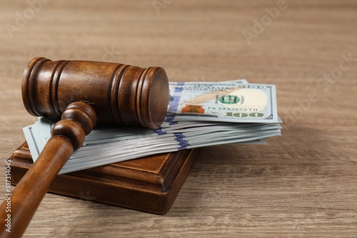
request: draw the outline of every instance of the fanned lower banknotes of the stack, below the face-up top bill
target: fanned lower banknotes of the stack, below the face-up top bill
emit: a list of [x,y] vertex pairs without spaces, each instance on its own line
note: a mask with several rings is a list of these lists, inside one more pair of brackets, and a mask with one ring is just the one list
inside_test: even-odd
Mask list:
[[[40,118],[24,128],[33,160],[36,161],[51,136],[54,122]],[[264,138],[280,135],[278,123],[164,123],[156,130],[116,127],[93,130],[84,146],[74,152],[62,173],[84,170],[111,162],[173,152],[186,148],[238,143],[264,143]]]

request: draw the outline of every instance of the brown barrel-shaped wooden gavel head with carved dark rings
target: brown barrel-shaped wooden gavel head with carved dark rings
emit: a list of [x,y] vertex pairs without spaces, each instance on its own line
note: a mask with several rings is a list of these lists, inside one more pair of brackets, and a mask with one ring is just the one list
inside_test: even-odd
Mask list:
[[34,58],[24,71],[22,99],[31,115],[60,118],[67,105],[81,101],[94,108],[100,125],[159,128],[169,82],[159,67]]

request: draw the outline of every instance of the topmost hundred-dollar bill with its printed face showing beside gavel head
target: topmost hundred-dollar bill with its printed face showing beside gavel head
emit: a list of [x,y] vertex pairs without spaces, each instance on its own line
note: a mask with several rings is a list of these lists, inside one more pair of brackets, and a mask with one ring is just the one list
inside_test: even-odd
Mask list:
[[276,87],[225,82],[171,82],[166,121],[278,123]]

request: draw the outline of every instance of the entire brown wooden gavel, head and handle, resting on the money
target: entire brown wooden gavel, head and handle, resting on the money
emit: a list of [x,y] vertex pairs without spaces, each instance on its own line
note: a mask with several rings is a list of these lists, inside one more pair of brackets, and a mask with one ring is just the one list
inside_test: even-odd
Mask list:
[[[169,82],[160,67],[34,58],[24,70],[21,89],[31,115],[61,120],[12,191],[10,206],[1,204],[0,237],[24,234],[51,182],[97,122],[155,129],[169,104]],[[9,224],[11,233],[6,232]]]

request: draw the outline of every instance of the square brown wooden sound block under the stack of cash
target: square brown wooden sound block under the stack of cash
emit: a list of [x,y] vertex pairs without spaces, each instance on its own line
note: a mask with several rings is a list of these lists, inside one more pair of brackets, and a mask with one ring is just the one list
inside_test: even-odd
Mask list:
[[[198,150],[180,150],[57,175],[49,192],[155,214],[173,205]],[[11,159],[11,184],[33,164],[25,142]]]

